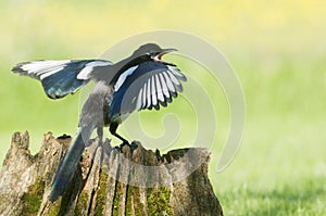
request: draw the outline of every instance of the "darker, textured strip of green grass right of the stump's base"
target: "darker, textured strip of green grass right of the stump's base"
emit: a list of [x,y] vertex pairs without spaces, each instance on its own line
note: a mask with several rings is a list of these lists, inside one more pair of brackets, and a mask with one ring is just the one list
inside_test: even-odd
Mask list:
[[218,193],[225,215],[325,215],[324,178],[301,179],[271,190],[242,185]]

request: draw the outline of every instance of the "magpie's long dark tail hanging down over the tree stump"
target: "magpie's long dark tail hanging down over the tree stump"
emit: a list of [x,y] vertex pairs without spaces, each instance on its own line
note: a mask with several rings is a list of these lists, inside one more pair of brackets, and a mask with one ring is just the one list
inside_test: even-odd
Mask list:
[[68,150],[57,169],[49,200],[54,202],[63,194],[67,185],[71,182],[83,151],[88,142],[93,127],[83,127],[77,136],[72,140]]

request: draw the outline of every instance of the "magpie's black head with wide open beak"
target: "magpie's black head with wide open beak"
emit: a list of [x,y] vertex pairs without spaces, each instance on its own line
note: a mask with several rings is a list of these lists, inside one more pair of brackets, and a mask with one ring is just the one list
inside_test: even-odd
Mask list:
[[162,60],[162,56],[166,53],[177,51],[174,48],[168,48],[168,49],[162,49],[160,46],[155,43],[146,43],[140,46],[134,53],[133,55],[136,55],[137,58],[143,58],[146,60],[152,60],[161,64],[165,65],[171,65],[171,66],[176,66],[175,64],[171,62],[166,62]]

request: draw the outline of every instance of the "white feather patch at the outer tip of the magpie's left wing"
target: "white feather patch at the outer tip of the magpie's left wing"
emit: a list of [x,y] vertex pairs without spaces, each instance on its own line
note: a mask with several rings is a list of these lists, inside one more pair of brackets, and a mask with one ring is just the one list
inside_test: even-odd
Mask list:
[[70,60],[64,61],[35,61],[21,66],[28,75],[43,79],[63,69]]

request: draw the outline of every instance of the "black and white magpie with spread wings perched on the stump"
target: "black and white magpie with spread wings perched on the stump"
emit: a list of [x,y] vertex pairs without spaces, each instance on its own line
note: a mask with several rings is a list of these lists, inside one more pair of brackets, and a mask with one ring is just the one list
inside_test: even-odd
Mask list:
[[116,132],[118,125],[131,112],[160,110],[183,91],[186,76],[162,56],[176,49],[162,49],[155,43],[140,46],[117,63],[106,60],[32,61],[18,63],[13,73],[39,80],[50,99],[75,93],[90,80],[95,87],[79,114],[77,135],[58,167],[49,200],[54,202],[71,182],[84,149],[97,129],[100,141],[103,127],[123,141]]

